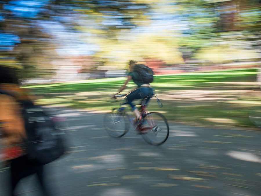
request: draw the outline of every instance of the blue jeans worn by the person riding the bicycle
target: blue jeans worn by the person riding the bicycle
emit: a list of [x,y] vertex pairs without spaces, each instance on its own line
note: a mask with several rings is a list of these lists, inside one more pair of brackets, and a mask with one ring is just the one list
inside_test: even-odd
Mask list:
[[[135,100],[135,99],[143,99],[146,96],[149,96],[149,98],[152,98],[153,94],[154,94],[153,93],[153,88],[151,88],[151,87],[140,87],[138,89],[135,89],[131,93],[129,93],[126,96],[126,100],[127,100],[128,104],[131,105],[132,111],[133,111],[134,109],[136,109],[135,105],[132,104],[133,100]],[[146,100],[146,104],[148,103],[149,100],[150,99]]]

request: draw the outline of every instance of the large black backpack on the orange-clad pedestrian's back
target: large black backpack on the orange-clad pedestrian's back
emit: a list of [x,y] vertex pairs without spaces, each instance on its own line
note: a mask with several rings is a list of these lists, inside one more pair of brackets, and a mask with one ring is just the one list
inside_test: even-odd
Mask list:
[[41,107],[33,105],[31,101],[22,103],[22,115],[28,136],[25,144],[29,159],[42,165],[56,160],[66,150],[63,138],[65,133],[56,129],[52,119]]

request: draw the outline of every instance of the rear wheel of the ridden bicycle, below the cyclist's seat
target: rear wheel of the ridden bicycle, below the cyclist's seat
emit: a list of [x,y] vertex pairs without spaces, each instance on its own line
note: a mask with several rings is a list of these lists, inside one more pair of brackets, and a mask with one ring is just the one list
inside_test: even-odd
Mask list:
[[[147,124],[148,123],[148,124]],[[143,119],[145,131],[143,139],[152,145],[160,145],[168,139],[169,127],[166,118],[158,112],[149,112]]]

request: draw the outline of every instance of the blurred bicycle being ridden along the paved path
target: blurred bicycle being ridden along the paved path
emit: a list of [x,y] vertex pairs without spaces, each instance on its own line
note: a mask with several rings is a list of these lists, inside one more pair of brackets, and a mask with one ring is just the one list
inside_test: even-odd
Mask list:
[[[121,98],[126,94],[115,96]],[[126,113],[126,107],[124,105],[128,103],[120,103],[119,108],[114,108],[112,112],[105,114],[104,126],[110,136],[120,138],[124,136],[130,128],[130,124],[134,125],[134,131],[136,130],[141,134],[142,138],[149,144],[161,145],[168,139],[169,126],[166,118],[158,112],[146,111],[146,100],[149,97],[145,97],[141,100],[141,115],[142,119],[134,122],[134,118]],[[158,99],[157,99],[158,100]]]

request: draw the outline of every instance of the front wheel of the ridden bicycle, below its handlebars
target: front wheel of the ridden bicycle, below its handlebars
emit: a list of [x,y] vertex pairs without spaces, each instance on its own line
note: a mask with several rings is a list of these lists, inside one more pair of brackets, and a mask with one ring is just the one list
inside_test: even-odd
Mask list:
[[113,109],[112,112],[105,114],[104,126],[110,136],[122,137],[128,130],[129,125],[128,119],[123,112],[119,112],[118,109]]

